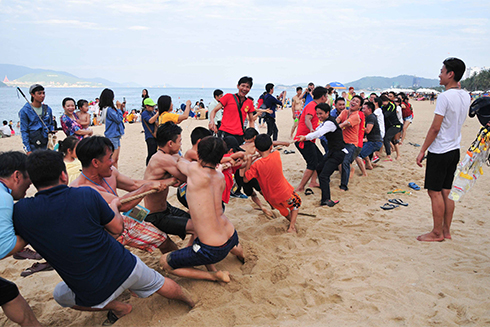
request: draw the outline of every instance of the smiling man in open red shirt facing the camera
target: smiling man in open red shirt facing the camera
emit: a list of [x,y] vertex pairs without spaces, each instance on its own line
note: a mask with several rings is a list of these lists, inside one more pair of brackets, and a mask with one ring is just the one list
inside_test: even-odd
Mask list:
[[[209,129],[218,133],[219,137],[233,136],[238,141],[238,144],[242,144],[245,119],[248,119],[248,127],[254,127],[254,103],[252,98],[247,97],[252,85],[252,77],[244,76],[240,78],[237,85],[238,93],[225,94],[219,100],[218,105],[211,111]],[[218,131],[214,123],[214,117],[221,108],[223,108],[223,118]]]

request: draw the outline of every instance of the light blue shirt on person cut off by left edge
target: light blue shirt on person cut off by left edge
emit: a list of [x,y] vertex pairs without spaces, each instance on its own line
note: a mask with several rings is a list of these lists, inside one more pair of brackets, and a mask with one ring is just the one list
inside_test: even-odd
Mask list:
[[5,184],[0,183],[0,259],[5,258],[17,243],[15,236],[12,212],[14,210],[14,198]]

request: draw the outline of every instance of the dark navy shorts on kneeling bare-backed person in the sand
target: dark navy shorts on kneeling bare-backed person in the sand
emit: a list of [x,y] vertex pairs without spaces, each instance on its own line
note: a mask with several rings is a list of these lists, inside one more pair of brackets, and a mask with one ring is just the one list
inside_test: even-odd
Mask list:
[[172,269],[213,264],[226,258],[236,245],[238,245],[236,230],[222,246],[209,246],[196,238],[192,246],[169,253],[167,263]]

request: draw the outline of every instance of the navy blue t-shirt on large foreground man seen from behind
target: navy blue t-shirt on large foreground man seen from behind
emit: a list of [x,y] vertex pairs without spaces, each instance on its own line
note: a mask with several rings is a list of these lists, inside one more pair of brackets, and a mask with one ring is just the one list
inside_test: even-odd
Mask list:
[[112,209],[90,187],[58,185],[14,206],[15,230],[84,307],[109,298],[136,265],[136,258],[104,229],[113,218]]

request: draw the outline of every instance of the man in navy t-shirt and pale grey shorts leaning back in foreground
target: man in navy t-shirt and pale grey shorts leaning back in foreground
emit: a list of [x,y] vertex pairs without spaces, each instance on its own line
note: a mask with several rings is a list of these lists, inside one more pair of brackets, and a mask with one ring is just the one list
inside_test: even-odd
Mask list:
[[158,293],[194,306],[177,283],[148,268],[111,236],[124,229],[119,198],[108,205],[92,188],[68,187],[58,152],[34,151],[26,168],[38,192],[15,204],[14,226],[63,279],[54,290],[56,302],[81,311],[110,310],[105,324],[131,312],[130,304],[115,300],[126,289],[139,297]]

